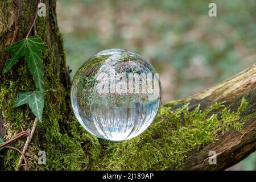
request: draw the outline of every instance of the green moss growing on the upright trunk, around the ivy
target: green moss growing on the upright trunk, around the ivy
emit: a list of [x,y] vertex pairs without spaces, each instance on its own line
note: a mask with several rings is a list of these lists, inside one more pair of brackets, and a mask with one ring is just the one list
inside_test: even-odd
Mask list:
[[[39,36],[46,41],[45,18],[38,18],[37,26]],[[60,71],[56,71],[56,62],[63,64],[64,56],[56,57],[53,46],[49,46],[42,55],[45,88],[53,88],[56,92],[48,91],[44,94],[46,102],[43,122],[38,123],[26,154],[28,169],[89,169],[92,165],[96,165],[101,146],[98,139],[87,133],[71,114],[70,102],[67,101],[70,91],[63,85],[65,81],[63,81],[62,65],[59,65]],[[14,80],[14,75],[18,79]],[[33,125],[35,117],[28,106],[14,108],[13,103],[18,93],[34,90],[35,85],[26,64],[18,64],[16,70],[13,69],[4,76],[5,82],[0,83],[0,110],[8,128],[5,139],[10,139],[22,130],[31,129]],[[11,145],[22,149],[25,141],[26,137]],[[46,152],[46,165],[40,166],[37,155],[42,150]],[[14,170],[19,158],[20,155],[15,151],[1,151],[0,160],[3,161],[3,166],[0,166],[0,169]]]

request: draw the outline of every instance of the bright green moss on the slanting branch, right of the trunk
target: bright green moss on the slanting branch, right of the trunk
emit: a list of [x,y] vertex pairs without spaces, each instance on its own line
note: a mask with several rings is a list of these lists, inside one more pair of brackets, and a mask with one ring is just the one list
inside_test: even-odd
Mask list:
[[172,111],[177,104],[181,102],[164,105],[150,128],[138,137],[109,142],[101,164],[94,169],[148,170],[180,166],[188,152],[199,152],[201,147],[217,140],[218,134],[231,128],[241,130],[241,112],[248,105],[243,98],[237,111],[227,109],[224,102],[204,111],[200,105],[190,111],[189,104]]

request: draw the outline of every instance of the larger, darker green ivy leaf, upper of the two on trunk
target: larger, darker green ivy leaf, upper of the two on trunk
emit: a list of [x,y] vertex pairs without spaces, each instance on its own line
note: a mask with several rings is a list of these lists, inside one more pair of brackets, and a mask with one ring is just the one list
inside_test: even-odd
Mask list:
[[41,51],[45,48],[47,48],[47,46],[42,42],[39,36],[31,36],[22,39],[7,47],[5,51],[10,52],[12,58],[6,61],[5,67],[3,67],[3,73],[8,72],[21,57],[24,57],[33,80],[35,81],[36,89],[43,91],[44,67]]

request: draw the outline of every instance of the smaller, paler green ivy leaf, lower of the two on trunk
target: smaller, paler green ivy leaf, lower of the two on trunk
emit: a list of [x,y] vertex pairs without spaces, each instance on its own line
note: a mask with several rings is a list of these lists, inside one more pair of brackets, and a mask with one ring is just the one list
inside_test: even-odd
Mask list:
[[43,93],[39,90],[34,92],[19,93],[18,100],[15,101],[16,107],[28,104],[32,113],[38,118],[39,122],[42,122],[42,114],[44,109],[44,97]]

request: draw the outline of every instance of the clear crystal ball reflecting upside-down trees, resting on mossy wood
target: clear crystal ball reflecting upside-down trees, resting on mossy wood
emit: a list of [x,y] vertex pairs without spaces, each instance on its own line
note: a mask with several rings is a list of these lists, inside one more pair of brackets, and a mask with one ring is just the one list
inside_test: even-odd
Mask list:
[[141,134],[161,104],[159,75],[142,56],[122,49],[93,55],[76,72],[71,102],[77,120],[98,138],[120,141]]

